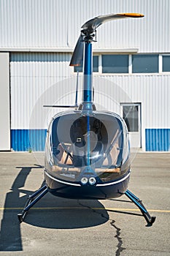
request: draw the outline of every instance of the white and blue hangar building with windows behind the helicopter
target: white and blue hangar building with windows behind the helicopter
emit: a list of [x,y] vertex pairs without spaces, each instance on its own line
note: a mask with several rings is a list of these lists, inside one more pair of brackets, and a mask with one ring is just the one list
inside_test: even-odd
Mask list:
[[[47,123],[63,109],[43,105],[74,102],[77,69],[69,61],[82,24],[121,12],[144,18],[98,28],[94,101],[125,118],[132,146],[170,151],[169,0],[1,0],[1,151],[44,150]],[[80,91],[81,80],[80,67]]]

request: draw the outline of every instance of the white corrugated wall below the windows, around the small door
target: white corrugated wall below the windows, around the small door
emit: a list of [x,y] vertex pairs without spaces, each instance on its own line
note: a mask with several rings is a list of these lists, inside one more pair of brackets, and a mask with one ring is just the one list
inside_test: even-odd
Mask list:
[[[94,80],[96,102],[120,114],[120,103],[142,103],[142,146],[145,129],[170,127],[170,75],[114,75]],[[102,97],[105,95],[105,97]],[[107,97],[108,95],[108,97]]]

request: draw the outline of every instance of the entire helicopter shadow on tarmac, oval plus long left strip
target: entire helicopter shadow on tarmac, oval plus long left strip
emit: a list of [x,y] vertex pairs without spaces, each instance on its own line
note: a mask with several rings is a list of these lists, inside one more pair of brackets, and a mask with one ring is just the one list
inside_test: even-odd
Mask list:
[[[9,192],[7,192],[4,202],[1,219],[0,252],[23,251],[20,230],[22,224],[18,221],[17,214],[25,206],[28,195],[34,193],[34,191],[23,189],[23,187],[31,170],[42,168],[42,166],[16,168],[21,170]],[[20,197],[20,193],[25,195]],[[93,210],[93,208],[99,209]],[[42,228],[74,229],[101,225],[108,220],[109,215],[98,200],[69,200],[55,197],[49,192],[36,203],[34,208],[28,211],[24,222]]]

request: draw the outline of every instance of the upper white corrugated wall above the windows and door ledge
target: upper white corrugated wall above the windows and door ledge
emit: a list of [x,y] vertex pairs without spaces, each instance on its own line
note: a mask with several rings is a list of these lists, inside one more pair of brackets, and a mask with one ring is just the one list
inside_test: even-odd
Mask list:
[[94,48],[170,52],[169,0],[1,0],[0,48],[70,50],[85,21],[111,12],[141,12],[145,17],[105,23],[98,28]]

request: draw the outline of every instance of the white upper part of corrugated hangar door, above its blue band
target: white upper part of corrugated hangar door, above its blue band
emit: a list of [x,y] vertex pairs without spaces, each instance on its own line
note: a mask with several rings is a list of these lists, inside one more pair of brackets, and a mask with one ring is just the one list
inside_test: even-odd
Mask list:
[[[47,128],[49,109],[43,105],[73,104],[75,83],[70,77],[69,54],[12,53],[10,56],[11,128]],[[67,95],[67,102],[63,96]],[[34,116],[31,120],[31,112]],[[55,112],[56,110],[53,110]],[[57,110],[58,111],[58,110]],[[31,122],[31,123],[30,123]]]

